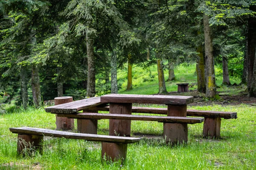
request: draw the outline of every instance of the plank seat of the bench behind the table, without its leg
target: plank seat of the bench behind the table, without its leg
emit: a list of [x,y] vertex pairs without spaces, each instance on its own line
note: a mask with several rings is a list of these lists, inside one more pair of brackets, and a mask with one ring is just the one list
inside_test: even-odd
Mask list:
[[[109,106],[102,105],[89,108],[92,111],[109,111]],[[132,113],[152,113],[152,114],[167,114],[167,108],[146,108],[146,107],[132,107]],[[199,111],[187,110],[187,116],[195,117],[221,117],[224,119],[236,119],[236,112],[222,112],[222,111]]]

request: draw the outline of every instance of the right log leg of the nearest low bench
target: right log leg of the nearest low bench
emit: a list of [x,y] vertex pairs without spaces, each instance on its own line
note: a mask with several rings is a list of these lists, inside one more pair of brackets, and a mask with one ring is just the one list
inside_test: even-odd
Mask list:
[[107,161],[125,161],[127,153],[126,143],[102,142],[102,159]]

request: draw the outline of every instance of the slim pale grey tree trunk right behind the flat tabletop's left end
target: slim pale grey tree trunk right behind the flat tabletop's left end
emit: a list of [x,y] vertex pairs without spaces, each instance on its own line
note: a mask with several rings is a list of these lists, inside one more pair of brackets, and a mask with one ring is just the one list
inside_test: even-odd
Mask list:
[[111,94],[117,94],[117,62],[116,53],[112,50],[111,55]]

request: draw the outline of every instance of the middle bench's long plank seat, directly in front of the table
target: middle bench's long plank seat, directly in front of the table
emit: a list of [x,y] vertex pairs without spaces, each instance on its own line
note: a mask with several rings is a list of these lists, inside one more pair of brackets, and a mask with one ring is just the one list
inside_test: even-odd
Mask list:
[[156,122],[169,122],[169,123],[188,123],[188,124],[204,122],[204,118],[177,117],[177,116],[144,116],[144,115],[127,115],[127,114],[103,114],[103,113],[58,114],[58,116],[67,116],[74,119],[119,119],[119,120],[140,120],[140,121],[156,121]]

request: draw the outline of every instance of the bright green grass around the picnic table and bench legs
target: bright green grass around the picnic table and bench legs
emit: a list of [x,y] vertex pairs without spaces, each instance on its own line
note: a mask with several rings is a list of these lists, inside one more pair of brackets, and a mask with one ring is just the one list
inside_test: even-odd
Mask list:
[[[164,107],[154,105],[154,107]],[[20,157],[16,154],[17,134],[9,127],[41,127],[55,129],[55,115],[44,109],[17,110],[0,114],[0,169],[254,169],[256,164],[256,111],[248,105],[193,106],[188,109],[234,111],[238,119],[221,121],[221,139],[203,139],[203,124],[189,125],[188,144],[168,146],[160,137],[163,124],[132,121],[132,134],[143,137],[129,144],[127,161],[106,163],[101,160],[101,144],[75,139],[45,137],[44,154]],[[73,130],[73,131],[76,131]],[[99,134],[108,134],[108,120],[99,120]],[[137,135],[133,135],[137,136]],[[215,165],[217,164],[217,165]]]

